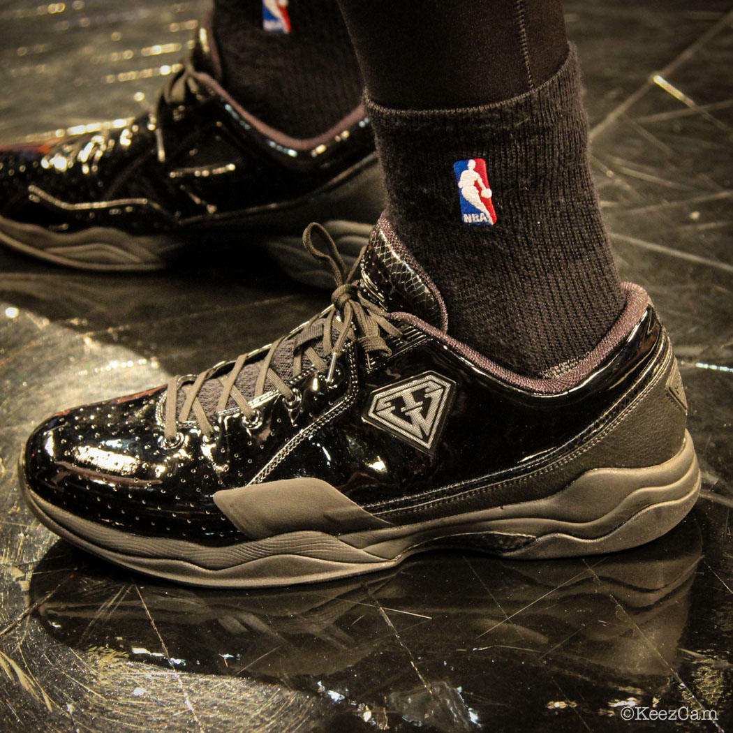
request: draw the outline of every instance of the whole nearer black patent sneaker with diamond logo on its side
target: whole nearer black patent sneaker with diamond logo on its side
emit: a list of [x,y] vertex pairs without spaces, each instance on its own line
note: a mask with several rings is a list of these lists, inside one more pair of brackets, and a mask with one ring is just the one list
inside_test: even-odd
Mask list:
[[56,534],[209,586],[380,570],[419,550],[607,553],[684,517],[700,471],[644,290],[566,372],[509,372],[447,334],[441,295],[380,220],[331,306],[254,353],[59,413],[22,457]]

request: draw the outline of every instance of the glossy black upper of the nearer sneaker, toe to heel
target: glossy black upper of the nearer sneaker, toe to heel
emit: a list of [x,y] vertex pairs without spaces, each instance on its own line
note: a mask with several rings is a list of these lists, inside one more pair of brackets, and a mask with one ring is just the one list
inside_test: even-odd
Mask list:
[[[567,467],[559,478],[548,473],[539,486],[523,486],[523,477],[563,465],[609,425],[619,423],[622,431],[619,416],[649,385],[663,384],[671,368],[668,338],[651,308],[605,363],[560,394],[517,388],[414,326],[405,332],[410,337],[393,339],[394,353],[381,364],[370,367],[351,343],[333,383],[313,369],[291,380],[301,402],[289,410],[275,393],[260,405],[262,425],[255,430],[247,430],[229,408],[216,418],[219,430],[210,442],[190,421],[179,426],[180,446],[166,447],[163,388],[61,413],[29,439],[26,480],[37,496],[86,519],[207,544],[243,539],[214,504],[217,490],[298,476],[323,479],[373,513],[386,512],[391,521],[416,521],[428,516],[419,509],[426,492],[446,500],[447,507],[438,509],[443,514],[452,511],[458,490],[479,490],[464,508],[553,493],[559,481],[575,478]],[[432,456],[362,417],[375,388],[426,371],[456,384]],[[661,402],[655,419],[668,435],[652,446],[655,454],[637,454],[634,435],[621,451],[612,447],[604,453],[601,441],[600,448],[583,453],[590,468],[661,463],[679,449],[684,414],[663,394],[652,397]],[[511,496],[480,493],[509,479],[515,480]]]

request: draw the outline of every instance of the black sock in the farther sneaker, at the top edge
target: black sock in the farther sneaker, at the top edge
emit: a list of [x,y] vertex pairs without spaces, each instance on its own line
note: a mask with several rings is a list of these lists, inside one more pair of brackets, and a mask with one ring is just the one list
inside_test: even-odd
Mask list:
[[273,128],[317,136],[360,102],[358,63],[336,0],[290,0],[284,10],[290,33],[265,30],[262,0],[214,0],[224,84]]

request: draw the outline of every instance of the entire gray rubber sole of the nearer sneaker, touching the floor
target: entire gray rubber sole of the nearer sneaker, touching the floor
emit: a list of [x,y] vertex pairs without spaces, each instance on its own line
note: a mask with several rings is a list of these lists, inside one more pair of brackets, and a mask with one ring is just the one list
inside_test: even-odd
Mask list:
[[[83,520],[34,494],[23,479],[22,465],[19,475],[34,515],[51,531],[90,553],[130,570],[180,583],[251,588],[315,583],[385,570],[410,555],[436,548],[482,549],[507,559],[537,560],[605,554],[644,545],[666,534],[692,509],[699,495],[700,469],[687,435],[685,445],[670,461],[631,471],[636,471],[640,485],[610,511],[582,522],[553,517],[497,518],[497,512],[507,508],[516,509],[517,514],[522,507],[536,507],[536,502],[526,502],[338,537],[317,531],[290,532],[226,548],[141,537]],[[584,474],[586,479],[590,474],[594,471]],[[674,478],[669,481],[671,474]],[[573,498],[573,485],[577,481],[550,499],[564,493]]]

